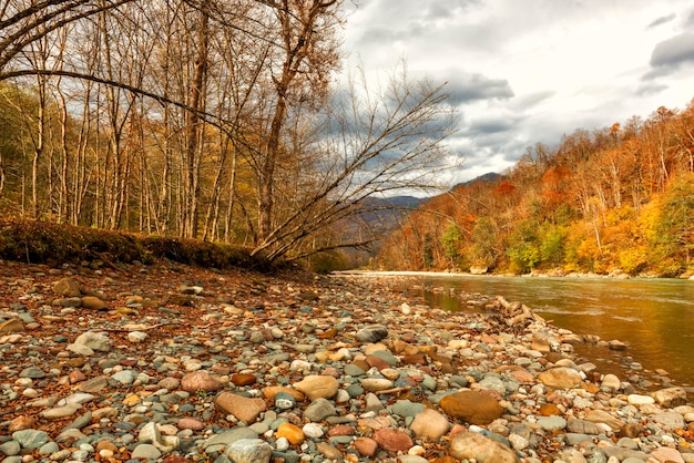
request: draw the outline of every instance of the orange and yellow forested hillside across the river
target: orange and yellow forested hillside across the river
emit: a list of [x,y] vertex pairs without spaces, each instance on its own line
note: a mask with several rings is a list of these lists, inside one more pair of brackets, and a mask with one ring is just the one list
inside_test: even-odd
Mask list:
[[688,277],[693,254],[694,101],[528,147],[420,206],[372,265]]

